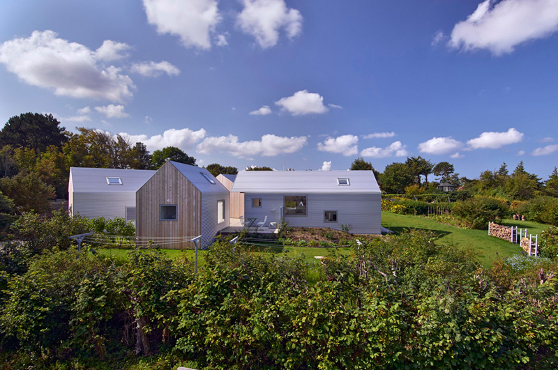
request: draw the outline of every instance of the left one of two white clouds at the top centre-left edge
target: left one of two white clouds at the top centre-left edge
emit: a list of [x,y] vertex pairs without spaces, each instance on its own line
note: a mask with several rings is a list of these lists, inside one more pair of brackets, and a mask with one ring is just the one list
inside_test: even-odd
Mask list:
[[144,0],[149,24],[158,33],[179,36],[184,46],[211,48],[211,33],[221,20],[216,0]]

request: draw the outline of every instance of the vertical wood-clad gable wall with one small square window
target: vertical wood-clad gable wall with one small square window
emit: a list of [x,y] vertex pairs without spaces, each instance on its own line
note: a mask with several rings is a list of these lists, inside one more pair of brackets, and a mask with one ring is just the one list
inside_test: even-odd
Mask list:
[[[202,233],[202,194],[172,163],[167,162],[136,193],[136,233],[147,237],[168,238],[162,247],[183,249],[193,243],[171,240]],[[160,221],[160,206],[176,205],[176,221]],[[188,238],[189,240],[189,238]]]

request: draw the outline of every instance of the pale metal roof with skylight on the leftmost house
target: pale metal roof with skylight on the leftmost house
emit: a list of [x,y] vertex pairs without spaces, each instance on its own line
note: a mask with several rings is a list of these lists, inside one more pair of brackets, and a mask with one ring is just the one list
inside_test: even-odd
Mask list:
[[[70,183],[77,193],[136,192],[155,172],[146,169],[71,167]],[[109,185],[107,178],[120,178],[121,184]]]

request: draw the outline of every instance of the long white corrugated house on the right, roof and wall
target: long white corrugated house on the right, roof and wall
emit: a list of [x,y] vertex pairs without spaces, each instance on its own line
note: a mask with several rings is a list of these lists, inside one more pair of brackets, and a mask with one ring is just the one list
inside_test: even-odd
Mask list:
[[372,171],[240,171],[232,192],[244,193],[247,220],[268,216],[290,226],[381,233],[381,192]]

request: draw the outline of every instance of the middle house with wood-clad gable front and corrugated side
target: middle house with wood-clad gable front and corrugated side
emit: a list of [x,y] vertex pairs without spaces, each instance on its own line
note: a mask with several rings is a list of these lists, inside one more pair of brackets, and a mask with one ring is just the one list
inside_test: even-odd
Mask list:
[[229,226],[229,190],[204,168],[169,161],[136,192],[136,236],[166,240],[165,248],[201,247],[213,243]]

